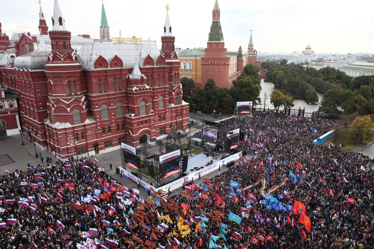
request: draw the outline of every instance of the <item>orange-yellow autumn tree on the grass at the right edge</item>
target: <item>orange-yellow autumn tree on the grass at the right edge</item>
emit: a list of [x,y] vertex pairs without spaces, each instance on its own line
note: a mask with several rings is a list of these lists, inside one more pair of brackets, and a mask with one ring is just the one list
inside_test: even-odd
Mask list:
[[349,139],[353,144],[373,141],[373,122],[370,116],[356,117],[349,127]]

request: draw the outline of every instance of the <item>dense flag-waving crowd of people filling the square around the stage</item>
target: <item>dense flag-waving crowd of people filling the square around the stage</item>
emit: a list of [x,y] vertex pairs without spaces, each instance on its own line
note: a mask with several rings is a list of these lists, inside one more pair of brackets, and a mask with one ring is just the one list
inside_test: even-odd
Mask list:
[[239,146],[253,156],[170,197],[142,197],[91,160],[76,172],[68,161],[6,172],[0,248],[373,247],[371,160],[313,144],[331,120],[254,114],[221,123],[243,125]]

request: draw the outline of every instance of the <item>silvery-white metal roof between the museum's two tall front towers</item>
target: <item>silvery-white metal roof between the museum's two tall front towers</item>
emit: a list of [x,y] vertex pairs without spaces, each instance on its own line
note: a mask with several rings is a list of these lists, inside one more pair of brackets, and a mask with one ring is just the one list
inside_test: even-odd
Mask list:
[[139,65],[144,64],[144,59],[148,55],[156,62],[160,56],[160,50],[156,43],[95,42],[85,44],[79,51],[79,59],[83,68],[94,69],[95,61],[100,55],[108,62],[117,55],[122,60],[124,68],[131,68],[135,65],[135,58]]

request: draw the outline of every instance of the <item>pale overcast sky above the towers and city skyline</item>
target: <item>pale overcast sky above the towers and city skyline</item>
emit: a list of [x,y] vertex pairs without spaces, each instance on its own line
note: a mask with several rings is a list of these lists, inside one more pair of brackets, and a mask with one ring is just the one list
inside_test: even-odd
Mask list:
[[[175,46],[206,47],[215,0],[104,0],[111,37],[156,40],[165,24],[165,4]],[[246,50],[251,30],[254,48],[261,52],[301,52],[308,43],[316,53],[374,53],[374,1],[355,0],[219,0],[226,48]],[[72,35],[99,38],[101,0],[59,0]],[[38,33],[37,0],[0,0],[2,30]],[[52,27],[53,0],[42,0],[47,25]]]

